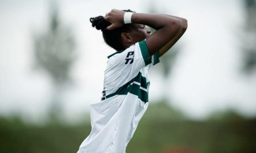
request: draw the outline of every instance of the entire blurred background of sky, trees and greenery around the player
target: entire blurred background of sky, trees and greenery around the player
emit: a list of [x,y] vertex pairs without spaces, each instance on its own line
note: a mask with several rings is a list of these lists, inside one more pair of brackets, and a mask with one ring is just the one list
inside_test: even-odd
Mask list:
[[76,152],[100,101],[112,8],[188,20],[151,69],[127,152],[256,152],[256,1],[0,0],[0,152]]

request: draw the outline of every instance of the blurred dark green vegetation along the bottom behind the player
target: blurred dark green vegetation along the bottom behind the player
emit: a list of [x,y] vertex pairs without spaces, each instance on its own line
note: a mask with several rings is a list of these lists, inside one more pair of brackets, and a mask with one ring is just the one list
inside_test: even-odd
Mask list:
[[[84,121],[39,126],[25,124],[19,117],[1,117],[0,152],[76,152],[89,133],[90,123]],[[188,120],[167,102],[159,101],[150,103],[126,152],[253,153],[255,135],[256,118],[226,111],[201,121]]]

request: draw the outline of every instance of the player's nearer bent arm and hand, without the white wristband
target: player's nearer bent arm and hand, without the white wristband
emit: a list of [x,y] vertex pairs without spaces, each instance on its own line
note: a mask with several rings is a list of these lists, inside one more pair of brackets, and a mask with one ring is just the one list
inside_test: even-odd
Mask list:
[[[121,27],[124,24],[124,14],[125,11],[121,10],[113,9],[110,11],[105,19],[112,23],[112,25],[107,29],[112,30]],[[151,56],[174,39],[177,33],[182,29],[181,19],[162,14],[143,14],[134,12],[131,16],[131,22],[148,25],[149,27],[156,29],[156,31],[151,36],[147,37],[146,40],[148,52]]]

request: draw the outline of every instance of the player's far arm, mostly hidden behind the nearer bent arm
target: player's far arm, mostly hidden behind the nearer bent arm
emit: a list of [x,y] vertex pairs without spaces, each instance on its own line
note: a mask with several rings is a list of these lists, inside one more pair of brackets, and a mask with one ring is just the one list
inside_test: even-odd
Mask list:
[[[168,15],[168,16],[171,16],[171,15]],[[182,28],[180,29],[179,32],[177,32],[177,35],[172,40],[170,40],[166,45],[163,46],[163,48],[159,50],[159,57],[161,57],[164,53],[166,53],[180,39],[180,37],[185,33],[188,27],[188,23],[186,19],[179,18],[177,16],[172,16],[172,17],[180,19],[182,21]]]

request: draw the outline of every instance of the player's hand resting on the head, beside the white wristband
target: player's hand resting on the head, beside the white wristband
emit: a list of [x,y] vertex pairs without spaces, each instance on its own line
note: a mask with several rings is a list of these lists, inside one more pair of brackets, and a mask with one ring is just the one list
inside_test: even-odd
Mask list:
[[109,13],[106,13],[106,16],[104,16],[104,19],[111,23],[111,25],[109,25],[109,27],[107,27],[106,29],[111,31],[115,28],[122,27],[123,24],[125,24],[123,23],[124,14],[125,14],[125,11],[116,10],[116,9],[112,9]]

